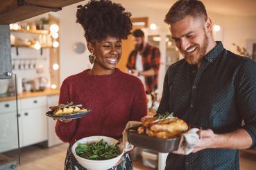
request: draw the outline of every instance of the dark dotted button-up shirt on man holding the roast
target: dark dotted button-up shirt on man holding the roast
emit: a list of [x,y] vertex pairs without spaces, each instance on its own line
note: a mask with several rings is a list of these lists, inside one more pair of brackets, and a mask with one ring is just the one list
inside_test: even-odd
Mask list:
[[[188,124],[228,133],[245,129],[256,148],[256,63],[223,48],[203,57],[200,68],[185,59],[169,67],[157,113],[175,113]],[[245,124],[241,125],[242,120]],[[166,169],[239,169],[239,151],[205,149],[189,155],[169,153]]]

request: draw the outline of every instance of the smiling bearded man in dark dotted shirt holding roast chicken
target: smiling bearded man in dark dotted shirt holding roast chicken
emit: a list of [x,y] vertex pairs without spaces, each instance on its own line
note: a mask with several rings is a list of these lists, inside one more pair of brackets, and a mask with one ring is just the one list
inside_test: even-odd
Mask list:
[[168,68],[157,113],[205,129],[193,153],[169,153],[166,169],[239,169],[239,149],[256,148],[255,62],[214,41],[201,1],[177,1],[164,21],[185,59]]

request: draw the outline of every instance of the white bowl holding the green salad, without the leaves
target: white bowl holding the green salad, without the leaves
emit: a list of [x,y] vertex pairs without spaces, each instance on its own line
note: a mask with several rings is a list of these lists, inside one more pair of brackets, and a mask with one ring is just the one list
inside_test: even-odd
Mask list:
[[118,140],[115,140],[114,138],[97,135],[97,136],[90,136],[87,138],[82,138],[73,144],[73,146],[71,148],[73,155],[75,156],[75,158],[79,162],[79,164],[81,164],[86,169],[91,169],[91,170],[92,169],[93,170],[110,169],[111,167],[114,167],[114,165],[117,164],[117,162],[121,159],[121,157],[123,155],[122,147],[119,147],[121,154],[119,156],[117,156],[116,158],[112,158],[110,160],[87,160],[85,158],[81,158],[80,156],[76,155],[76,147],[78,147],[78,143],[85,144],[85,143],[98,142],[101,139],[103,139],[108,144],[116,144],[117,142],[119,142]]

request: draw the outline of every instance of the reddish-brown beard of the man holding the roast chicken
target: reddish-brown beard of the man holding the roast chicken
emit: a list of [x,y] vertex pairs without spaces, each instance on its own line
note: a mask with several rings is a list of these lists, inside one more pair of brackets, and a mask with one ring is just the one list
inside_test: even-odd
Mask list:
[[205,33],[205,38],[203,39],[202,46],[198,45],[196,47],[197,48],[196,50],[199,50],[199,52],[196,55],[194,55],[194,57],[185,55],[185,59],[186,59],[187,63],[188,64],[198,64],[203,59],[203,56],[206,53],[207,46],[208,46],[208,37]]

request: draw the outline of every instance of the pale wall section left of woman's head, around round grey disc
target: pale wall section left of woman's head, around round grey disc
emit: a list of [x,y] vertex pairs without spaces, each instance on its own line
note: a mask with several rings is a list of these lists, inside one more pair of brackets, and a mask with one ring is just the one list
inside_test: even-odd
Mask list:
[[60,82],[69,75],[80,73],[85,68],[89,68],[88,50],[85,53],[77,54],[73,47],[77,42],[86,41],[83,28],[76,23],[76,3],[67,6],[59,12],[60,16]]

